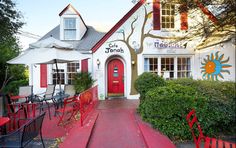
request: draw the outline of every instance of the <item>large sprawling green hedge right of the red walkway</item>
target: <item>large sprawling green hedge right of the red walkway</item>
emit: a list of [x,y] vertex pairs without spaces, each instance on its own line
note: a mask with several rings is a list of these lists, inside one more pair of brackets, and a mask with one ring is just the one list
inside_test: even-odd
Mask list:
[[174,141],[192,139],[185,118],[192,108],[196,109],[205,135],[234,134],[234,87],[232,82],[168,81],[167,86],[148,91],[138,111],[145,121]]

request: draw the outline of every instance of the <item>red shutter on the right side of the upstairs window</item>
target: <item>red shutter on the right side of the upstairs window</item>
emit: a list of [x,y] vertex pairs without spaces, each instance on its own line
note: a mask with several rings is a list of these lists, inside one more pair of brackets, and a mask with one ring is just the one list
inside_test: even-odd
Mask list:
[[188,30],[188,8],[186,4],[180,6],[181,30]]

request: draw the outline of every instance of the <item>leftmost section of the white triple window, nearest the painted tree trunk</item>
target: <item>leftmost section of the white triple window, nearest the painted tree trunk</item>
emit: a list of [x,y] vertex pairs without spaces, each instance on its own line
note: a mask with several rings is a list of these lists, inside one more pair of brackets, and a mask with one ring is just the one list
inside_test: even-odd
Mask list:
[[144,58],[144,71],[145,72],[158,72],[158,59],[157,58]]

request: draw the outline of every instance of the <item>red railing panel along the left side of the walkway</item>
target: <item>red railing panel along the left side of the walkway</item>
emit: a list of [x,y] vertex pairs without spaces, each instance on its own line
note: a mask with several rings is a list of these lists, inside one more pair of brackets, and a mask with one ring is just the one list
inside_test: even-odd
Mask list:
[[80,123],[83,126],[83,122],[88,114],[94,109],[98,102],[98,88],[94,86],[83,91],[80,94]]

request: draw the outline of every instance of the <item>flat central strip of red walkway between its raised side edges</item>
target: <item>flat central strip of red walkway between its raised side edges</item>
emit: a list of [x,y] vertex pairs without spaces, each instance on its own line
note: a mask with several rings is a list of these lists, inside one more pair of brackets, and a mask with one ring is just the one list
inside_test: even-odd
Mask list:
[[89,148],[144,148],[145,141],[131,109],[100,110]]

